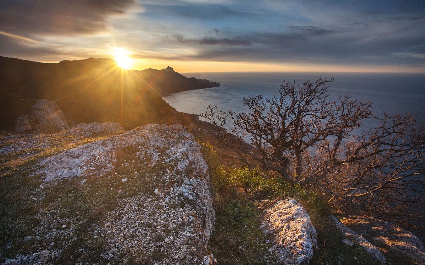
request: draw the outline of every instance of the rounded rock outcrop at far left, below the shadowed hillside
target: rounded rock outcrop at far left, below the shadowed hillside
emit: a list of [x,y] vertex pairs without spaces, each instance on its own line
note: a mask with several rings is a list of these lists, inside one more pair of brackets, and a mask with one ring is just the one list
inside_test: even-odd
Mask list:
[[68,128],[65,116],[56,102],[39,99],[31,111],[20,115],[16,120],[15,131],[52,134]]

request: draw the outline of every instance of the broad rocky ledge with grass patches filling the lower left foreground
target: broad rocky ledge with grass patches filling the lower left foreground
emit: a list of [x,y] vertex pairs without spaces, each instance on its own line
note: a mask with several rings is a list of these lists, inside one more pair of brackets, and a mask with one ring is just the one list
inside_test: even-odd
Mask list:
[[0,209],[12,213],[0,215],[0,263],[214,264],[208,167],[195,137],[178,125],[102,134],[1,139],[0,165],[24,163],[0,179]]

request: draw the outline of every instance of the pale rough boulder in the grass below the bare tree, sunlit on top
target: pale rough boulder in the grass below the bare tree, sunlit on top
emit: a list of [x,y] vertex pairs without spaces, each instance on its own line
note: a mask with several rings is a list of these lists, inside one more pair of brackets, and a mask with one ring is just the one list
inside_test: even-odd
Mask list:
[[316,229],[296,200],[276,202],[266,211],[260,228],[264,233],[274,235],[270,252],[282,264],[308,264],[313,249],[317,248]]

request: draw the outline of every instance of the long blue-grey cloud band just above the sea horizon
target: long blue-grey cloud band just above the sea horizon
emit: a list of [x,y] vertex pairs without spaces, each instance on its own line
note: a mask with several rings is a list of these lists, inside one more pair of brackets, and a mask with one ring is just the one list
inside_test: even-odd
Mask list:
[[[314,29],[314,28],[313,28]],[[320,28],[319,28],[320,29]],[[335,32],[335,31],[333,31]],[[355,32],[355,31],[354,31]],[[311,64],[410,64],[423,66],[423,44],[425,36],[406,35],[394,30],[388,35],[374,37],[372,33],[367,42],[362,35],[353,32],[338,32],[331,38],[320,34],[300,34],[298,31],[281,33],[246,33],[241,36],[251,45],[204,45],[198,53],[163,58],[156,55],[155,59],[181,60],[213,60],[213,61],[255,61],[274,63],[311,63]],[[400,35],[401,34],[401,35]],[[400,37],[397,37],[400,36]],[[178,43],[199,44],[187,40],[183,35],[176,35]],[[218,40],[213,41],[214,44]],[[398,53],[402,51],[402,53]],[[398,53],[398,54],[397,54]],[[422,54],[422,56],[421,56]]]

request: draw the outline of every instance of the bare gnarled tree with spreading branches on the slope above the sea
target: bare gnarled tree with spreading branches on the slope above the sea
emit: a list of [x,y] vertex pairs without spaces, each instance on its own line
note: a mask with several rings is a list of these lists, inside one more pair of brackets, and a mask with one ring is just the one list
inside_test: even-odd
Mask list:
[[[220,124],[218,131],[230,118],[234,134],[247,133],[256,150],[247,154],[264,170],[317,190],[332,203],[356,204],[381,214],[422,204],[425,133],[415,126],[414,115],[380,118],[371,102],[348,95],[329,101],[332,81],[285,81],[272,98],[244,98],[247,112],[214,107],[204,117]],[[379,125],[363,130],[368,119]]]

